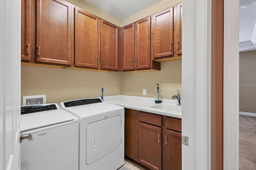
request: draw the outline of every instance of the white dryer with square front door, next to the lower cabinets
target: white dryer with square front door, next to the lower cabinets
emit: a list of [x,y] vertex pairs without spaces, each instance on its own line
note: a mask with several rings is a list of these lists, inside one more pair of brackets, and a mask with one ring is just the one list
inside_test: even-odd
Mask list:
[[124,108],[101,99],[59,104],[79,120],[79,169],[116,170],[124,164]]

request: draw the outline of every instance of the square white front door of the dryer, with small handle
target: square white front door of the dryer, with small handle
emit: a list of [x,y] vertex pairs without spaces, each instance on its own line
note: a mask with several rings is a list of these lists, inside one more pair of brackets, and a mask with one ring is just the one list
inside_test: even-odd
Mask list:
[[121,146],[121,116],[86,127],[86,164],[90,165]]

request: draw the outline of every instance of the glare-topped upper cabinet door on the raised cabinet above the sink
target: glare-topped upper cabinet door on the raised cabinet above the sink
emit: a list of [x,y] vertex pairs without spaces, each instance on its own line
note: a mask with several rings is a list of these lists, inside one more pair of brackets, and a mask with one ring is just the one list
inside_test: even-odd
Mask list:
[[173,7],[153,16],[153,58],[173,54]]

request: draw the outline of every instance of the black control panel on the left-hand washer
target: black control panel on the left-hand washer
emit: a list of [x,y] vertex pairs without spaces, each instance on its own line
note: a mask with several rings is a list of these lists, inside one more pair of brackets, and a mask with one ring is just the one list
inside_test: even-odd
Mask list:
[[42,111],[50,111],[58,109],[55,104],[42,104],[42,105],[29,105],[29,106],[22,106],[20,108],[20,113],[28,114],[28,113],[35,113],[35,112],[42,112]]

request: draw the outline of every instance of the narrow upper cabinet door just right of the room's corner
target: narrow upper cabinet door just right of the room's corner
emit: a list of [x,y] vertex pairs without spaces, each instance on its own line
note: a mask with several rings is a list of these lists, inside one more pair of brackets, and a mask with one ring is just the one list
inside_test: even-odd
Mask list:
[[123,69],[134,70],[134,23],[123,29]]

